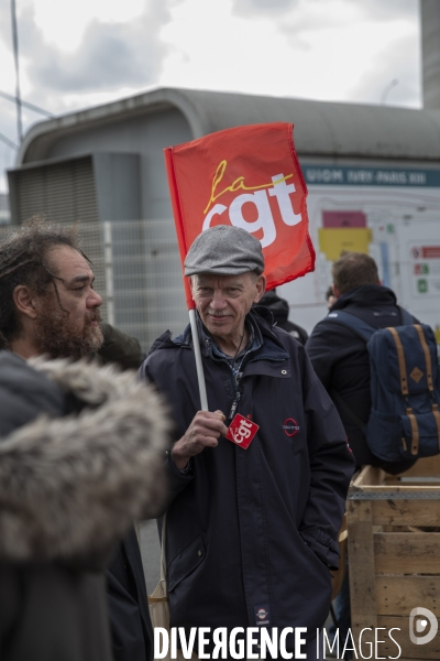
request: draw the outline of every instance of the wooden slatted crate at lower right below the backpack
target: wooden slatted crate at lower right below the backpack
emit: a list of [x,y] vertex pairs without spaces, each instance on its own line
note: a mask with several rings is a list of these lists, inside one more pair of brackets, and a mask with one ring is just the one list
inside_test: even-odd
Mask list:
[[[348,530],[354,641],[364,628],[384,627],[377,658],[396,658],[388,636],[396,627],[400,661],[440,660],[440,456],[419,459],[400,476],[366,466],[350,487]],[[409,638],[409,614],[420,606],[439,618],[427,644]],[[362,638],[374,640],[370,631]]]

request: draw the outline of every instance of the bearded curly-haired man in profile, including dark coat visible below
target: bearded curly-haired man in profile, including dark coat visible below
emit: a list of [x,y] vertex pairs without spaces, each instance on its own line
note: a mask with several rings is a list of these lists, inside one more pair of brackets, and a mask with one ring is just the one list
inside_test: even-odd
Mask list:
[[[103,349],[103,359],[125,367],[127,351],[113,342],[116,329],[107,348],[103,344],[102,299],[94,280],[75,228],[34,218],[1,241],[0,333],[9,350],[25,360],[43,355],[78,360]],[[136,366],[136,340],[125,338],[129,362]],[[147,661],[152,628],[134,527],[109,566],[108,594],[116,661]]]

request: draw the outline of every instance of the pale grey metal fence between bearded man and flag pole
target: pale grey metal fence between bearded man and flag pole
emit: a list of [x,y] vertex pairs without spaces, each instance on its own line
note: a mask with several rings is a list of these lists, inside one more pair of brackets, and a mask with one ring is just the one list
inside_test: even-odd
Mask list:
[[[0,227],[0,239],[16,229]],[[183,330],[188,313],[173,219],[85,223],[78,231],[103,319],[138,337],[144,351],[164,330]]]

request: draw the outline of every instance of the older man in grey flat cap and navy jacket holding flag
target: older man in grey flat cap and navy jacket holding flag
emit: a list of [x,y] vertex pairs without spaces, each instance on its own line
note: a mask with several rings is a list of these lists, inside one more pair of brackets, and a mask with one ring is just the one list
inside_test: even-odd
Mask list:
[[[175,339],[164,333],[141,368],[175,421],[167,459],[170,626],[187,636],[191,627],[211,635],[218,627],[305,627],[300,652],[319,659],[315,638],[329,610],[353,459],[304,347],[254,307],[263,271],[261,243],[245,230],[200,234],[185,261],[198,337],[189,326]],[[196,342],[209,412],[199,411]],[[237,416],[257,430],[245,449],[226,437]],[[293,635],[286,647],[295,650]]]

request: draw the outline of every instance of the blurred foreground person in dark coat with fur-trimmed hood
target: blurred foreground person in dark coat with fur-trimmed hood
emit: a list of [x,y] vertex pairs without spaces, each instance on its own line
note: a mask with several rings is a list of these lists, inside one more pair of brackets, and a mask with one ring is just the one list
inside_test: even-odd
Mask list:
[[0,350],[2,661],[113,660],[105,571],[164,497],[161,411],[133,373]]

